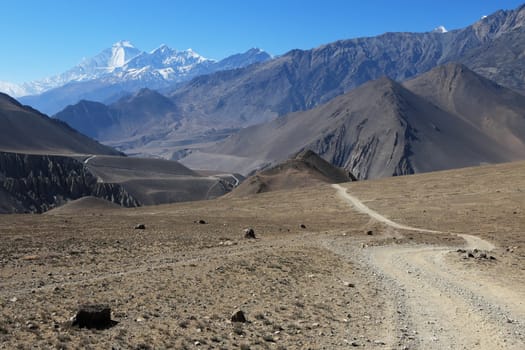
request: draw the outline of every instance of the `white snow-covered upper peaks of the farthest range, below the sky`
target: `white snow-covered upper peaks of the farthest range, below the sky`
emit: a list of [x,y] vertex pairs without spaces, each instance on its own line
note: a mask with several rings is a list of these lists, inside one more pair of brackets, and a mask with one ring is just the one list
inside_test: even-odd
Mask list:
[[[256,55],[254,50],[257,51]],[[232,61],[233,57],[235,59]],[[23,84],[0,82],[0,92],[14,97],[40,95],[68,84],[82,82],[90,82],[90,86],[129,83],[128,85],[133,86],[132,89],[137,84],[140,88],[156,89],[201,74],[240,68],[270,58],[268,53],[252,49],[244,54],[216,61],[205,58],[192,49],[177,51],[166,45],[144,52],[131,42],[123,40],[94,57],[83,59],[78,65],[59,75]],[[222,62],[225,64],[221,64]]]

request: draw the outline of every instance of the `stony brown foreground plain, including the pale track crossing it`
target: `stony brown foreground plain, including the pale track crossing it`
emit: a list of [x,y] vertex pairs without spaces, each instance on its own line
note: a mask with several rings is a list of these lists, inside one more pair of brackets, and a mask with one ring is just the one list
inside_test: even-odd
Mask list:
[[523,349],[524,171],[0,216],[0,348]]

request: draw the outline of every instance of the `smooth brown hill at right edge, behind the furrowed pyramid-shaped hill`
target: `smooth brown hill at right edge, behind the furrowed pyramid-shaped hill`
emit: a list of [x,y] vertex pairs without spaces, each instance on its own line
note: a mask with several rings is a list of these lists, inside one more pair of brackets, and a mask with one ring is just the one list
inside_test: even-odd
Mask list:
[[509,156],[521,159],[525,149],[523,95],[453,63],[403,85],[491,137]]

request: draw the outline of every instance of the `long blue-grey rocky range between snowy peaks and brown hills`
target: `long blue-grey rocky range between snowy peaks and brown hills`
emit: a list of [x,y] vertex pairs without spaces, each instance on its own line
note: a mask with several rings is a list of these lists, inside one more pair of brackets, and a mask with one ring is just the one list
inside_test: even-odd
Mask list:
[[[139,92],[107,104],[110,112],[83,101],[57,117],[129,154],[180,159],[238,129],[312,109],[368,81],[386,76],[402,82],[449,62],[524,93],[523,52],[525,6],[459,30],[386,33],[292,50],[150,93],[151,103]],[[159,110],[161,94],[166,98]],[[136,99],[140,113],[131,112]]]

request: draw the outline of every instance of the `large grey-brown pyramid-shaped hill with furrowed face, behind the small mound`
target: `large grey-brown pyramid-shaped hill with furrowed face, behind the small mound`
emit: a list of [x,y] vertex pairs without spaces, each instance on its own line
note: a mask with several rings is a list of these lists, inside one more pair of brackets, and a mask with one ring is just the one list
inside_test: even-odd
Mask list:
[[[448,66],[443,70],[456,68],[458,66]],[[429,91],[448,89],[446,79],[425,76],[420,79],[426,81]],[[498,127],[480,127],[473,121],[474,114],[459,114],[464,112],[462,107],[440,108],[432,99],[417,95],[418,87],[410,91],[382,78],[315,109],[243,129],[207,150],[209,153],[194,153],[183,162],[196,167],[215,161],[221,170],[231,171],[228,160],[234,159],[236,166],[241,165],[236,171],[247,173],[254,163],[276,164],[295,152],[311,149],[332,164],[365,179],[525,158],[521,131],[512,131],[513,127],[525,129],[519,117],[520,113],[525,115],[525,105],[522,105],[525,98],[473,72],[460,75],[455,84],[482,94],[486,103],[499,106],[494,110],[503,113],[505,96],[512,96],[513,107],[507,107],[516,114],[508,117],[512,122],[507,123],[507,117],[491,114],[485,116],[485,124]],[[450,98],[460,91],[452,89]],[[458,96],[458,105],[469,98],[472,97],[467,94]],[[515,142],[512,145],[502,142],[500,139],[505,135],[515,138]]]

